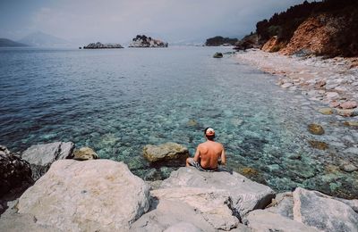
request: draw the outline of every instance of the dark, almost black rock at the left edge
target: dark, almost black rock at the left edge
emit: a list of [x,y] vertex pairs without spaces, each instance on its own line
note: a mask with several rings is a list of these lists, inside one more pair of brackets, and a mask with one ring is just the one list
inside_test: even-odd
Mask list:
[[4,145],[0,145],[0,180],[1,214],[7,207],[7,201],[19,197],[34,182],[29,162],[11,153]]

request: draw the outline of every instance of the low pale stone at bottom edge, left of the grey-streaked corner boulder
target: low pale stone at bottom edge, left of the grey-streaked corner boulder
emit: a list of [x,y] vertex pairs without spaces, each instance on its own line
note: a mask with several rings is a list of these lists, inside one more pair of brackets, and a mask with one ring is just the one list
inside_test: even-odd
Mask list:
[[279,214],[269,211],[251,211],[247,217],[248,226],[254,231],[290,231],[290,232],[319,232],[316,228],[311,228],[301,222],[287,219]]

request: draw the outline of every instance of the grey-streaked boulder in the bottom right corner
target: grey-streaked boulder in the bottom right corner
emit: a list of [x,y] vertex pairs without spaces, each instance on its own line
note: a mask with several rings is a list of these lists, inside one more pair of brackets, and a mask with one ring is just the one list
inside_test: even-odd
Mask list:
[[351,207],[301,187],[294,190],[294,220],[324,231],[358,231],[358,214]]

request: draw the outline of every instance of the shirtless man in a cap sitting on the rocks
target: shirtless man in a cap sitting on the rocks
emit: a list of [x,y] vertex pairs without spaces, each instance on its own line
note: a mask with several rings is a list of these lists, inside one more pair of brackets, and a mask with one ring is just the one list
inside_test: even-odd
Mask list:
[[198,170],[215,171],[217,164],[226,164],[224,146],[214,141],[215,130],[205,128],[205,143],[198,145],[194,158],[186,159],[186,167],[193,166]]

